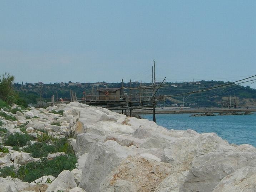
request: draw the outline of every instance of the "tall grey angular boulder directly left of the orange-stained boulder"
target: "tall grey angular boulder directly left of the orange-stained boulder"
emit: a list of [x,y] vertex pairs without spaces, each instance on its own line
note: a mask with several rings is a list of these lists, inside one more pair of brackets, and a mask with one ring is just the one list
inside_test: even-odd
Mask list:
[[98,191],[102,180],[119,165],[122,159],[131,154],[127,147],[115,141],[96,142],[85,162],[79,187],[90,192]]

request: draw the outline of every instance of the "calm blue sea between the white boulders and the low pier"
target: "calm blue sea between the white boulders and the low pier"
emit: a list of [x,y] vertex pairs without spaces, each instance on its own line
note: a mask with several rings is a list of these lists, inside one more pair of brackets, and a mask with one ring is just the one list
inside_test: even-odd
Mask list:
[[[191,114],[156,114],[156,123],[168,129],[215,132],[229,143],[256,147],[256,115],[190,117]],[[140,115],[150,121],[153,115]]]

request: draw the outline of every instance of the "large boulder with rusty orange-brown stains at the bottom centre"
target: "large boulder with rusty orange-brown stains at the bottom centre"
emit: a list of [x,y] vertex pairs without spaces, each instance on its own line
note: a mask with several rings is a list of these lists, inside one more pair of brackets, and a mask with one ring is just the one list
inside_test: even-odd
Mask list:
[[100,192],[155,191],[170,173],[170,164],[140,156],[128,156],[100,184]]

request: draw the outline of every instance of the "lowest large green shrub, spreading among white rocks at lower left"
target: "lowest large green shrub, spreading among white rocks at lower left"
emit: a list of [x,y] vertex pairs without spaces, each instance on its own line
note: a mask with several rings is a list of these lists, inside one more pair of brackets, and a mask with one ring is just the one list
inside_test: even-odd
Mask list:
[[18,178],[24,182],[32,182],[44,175],[57,177],[64,170],[73,170],[76,168],[77,158],[75,155],[61,155],[53,160],[47,160],[46,157],[39,161],[33,161],[19,168]]

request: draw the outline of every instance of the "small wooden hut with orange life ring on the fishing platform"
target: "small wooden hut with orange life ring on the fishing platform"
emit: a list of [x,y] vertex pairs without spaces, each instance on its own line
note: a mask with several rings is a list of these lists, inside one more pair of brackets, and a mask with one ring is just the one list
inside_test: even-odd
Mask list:
[[121,88],[99,89],[99,100],[119,101]]

